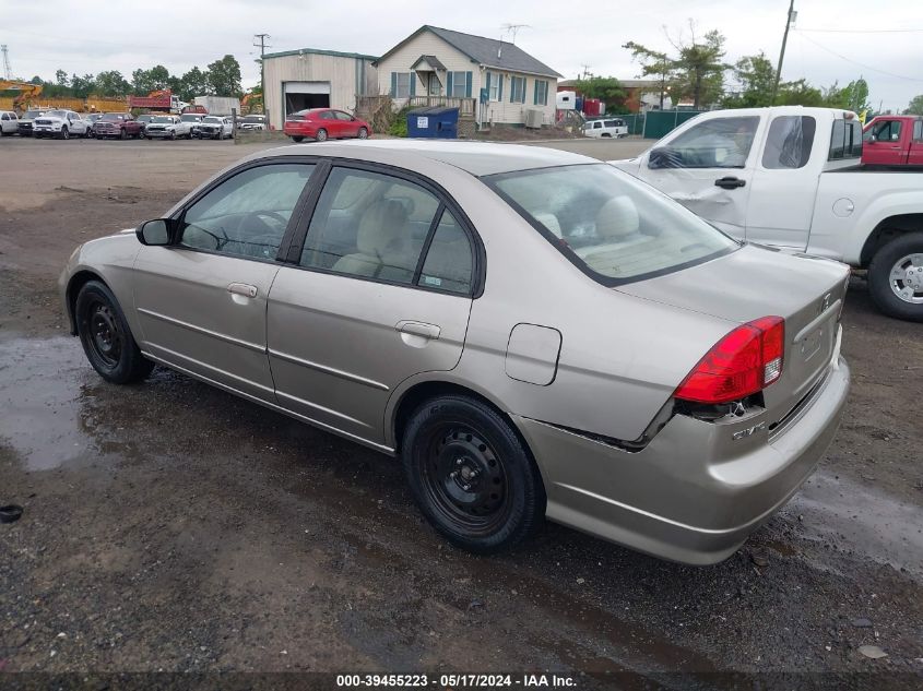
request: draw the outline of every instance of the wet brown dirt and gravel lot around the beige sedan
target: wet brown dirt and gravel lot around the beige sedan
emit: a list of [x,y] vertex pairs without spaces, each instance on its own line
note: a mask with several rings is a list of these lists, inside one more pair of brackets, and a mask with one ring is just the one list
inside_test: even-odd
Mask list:
[[25,507],[0,525],[0,670],[923,670],[923,325],[860,278],[833,445],[711,568],[556,525],[472,557],[383,456],[163,369],[103,383],[64,334],[68,254],[257,148],[0,142],[0,504]]

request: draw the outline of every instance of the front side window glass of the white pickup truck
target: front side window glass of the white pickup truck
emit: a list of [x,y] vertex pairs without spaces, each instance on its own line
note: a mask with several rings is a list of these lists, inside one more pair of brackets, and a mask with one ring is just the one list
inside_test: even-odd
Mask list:
[[758,126],[756,116],[705,120],[651,151],[648,167],[743,168]]

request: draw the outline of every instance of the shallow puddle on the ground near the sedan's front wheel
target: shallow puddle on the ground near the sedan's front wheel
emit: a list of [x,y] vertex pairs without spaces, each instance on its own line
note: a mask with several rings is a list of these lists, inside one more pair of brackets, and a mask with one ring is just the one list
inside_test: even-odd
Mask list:
[[79,418],[97,383],[76,338],[0,341],[0,443],[28,470],[96,461]]

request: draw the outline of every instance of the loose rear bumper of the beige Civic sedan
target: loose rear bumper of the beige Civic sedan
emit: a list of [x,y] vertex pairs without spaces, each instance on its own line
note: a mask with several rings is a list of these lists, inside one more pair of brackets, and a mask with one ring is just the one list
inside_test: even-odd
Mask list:
[[839,427],[850,370],[837,357],[774,432],[766,413],[706,422],[675,415],[629,452],[553,425],[516,418],[547,492],[547,516],[689,564],[730,557],[814,472]]

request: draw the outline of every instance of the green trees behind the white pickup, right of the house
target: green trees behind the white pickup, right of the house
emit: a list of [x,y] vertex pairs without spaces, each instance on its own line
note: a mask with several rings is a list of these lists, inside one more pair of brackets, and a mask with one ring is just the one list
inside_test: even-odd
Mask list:
[[[660,82],[659,87],[649,93],[660,96],[661,107],[670,98],[673,104],[691,102],[697,110],[777,105],[872,111],[868,83],[862,76],[845,86],[835,82],[830,86],[818,87],[798,79],[780,82],[776,88],[776,64],[772,60],[760,51],[744,56],[734,63],[726,62],[725,38],[718,31],[697,35],[695,22],[690,21],[686,35],[678,38],[667,35],[667,39],[672,49],[666,51],[630,40],[623,45],[640,64],[641,76]],[[580,92],[590,98],[601,98],[608,112],[628,112],[625,105],[627,94],[618,80],[590,76],[578,81]],[[923,115],[923,95],[914,98],[904,112]]]

